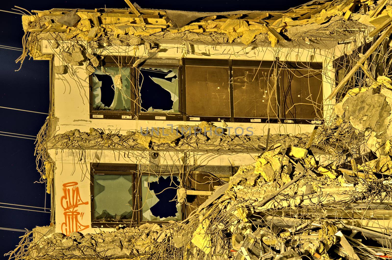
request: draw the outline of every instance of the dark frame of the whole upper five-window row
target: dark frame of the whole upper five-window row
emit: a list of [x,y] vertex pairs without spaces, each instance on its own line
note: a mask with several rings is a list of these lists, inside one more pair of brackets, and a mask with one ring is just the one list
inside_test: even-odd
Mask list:
[[[131,67],[132,84],[139,88],[138,79],[140,72],[138,68],[140,67],[152,67],[152,68],[178,68],[178,86],[179,86],[179,111],[180,113],[153,113],[153,112],[141,112],[140,111],[140,101],[139,104],[132,105],[132,111],[108,111],[108,110],[93,110],[92,104],[92,82],[91,75],[89,76],[89,89],[90,89],[90,118],[94,119],[131,119],[131,120],[162,120],[162,121],[208,121],[208,122],[238,122],[238,123],[294,123],[294,124],[320,124],[324,122],[324,118],[317,119],[317,122],[312,122],[314,118],[284,118],[281,112],[281,83],[282,83],[282,72],[280,71],[282,66],[279,65],[279,60],[243,60],[243,59],[210,59],[210,58],[181,58],[181,59],[171,59],[170,61],[165,61],[164,58],[156,58],[151,62],[147,59],[144,63],[134,68],[132,65],[138,57],[136,56],[104,56],[104,66],[118,66],[121,60],[130,59],[129,63],[121,63],[123,67]],[[158,62],[158,59],[162,59]],[[117,62],[117,63],[116,63]],[[292,61],[284,61],[285,64],[296,64]],[[307,62],[311,68],[312,64],[316,66],[317,70],[321,70],[321,75],[323,74],[323,64],[320,62]],[[100,64],[101,65],[101,64]],[[271,68],[274,66],[275,76],[276,76],[276,100],[277,100],[277,115],[278,117],[273,118],[263,118],[263,117],[235,117],[234,116],[234,79],[233,79],[233,68]],[[101,65],[102,66],[102,65]],[[220,66],[227,67],[229,70],[229,106],[230,106],[230,116],[191,116],[187,115],[187,86],[186,86],[186,66]],[[323,91],[323,81],[321,81],[321,91]],[[131,96],[133,100],[136,100],[136,96]],[[324,114],[323,104],[321,106],[321,114]]]

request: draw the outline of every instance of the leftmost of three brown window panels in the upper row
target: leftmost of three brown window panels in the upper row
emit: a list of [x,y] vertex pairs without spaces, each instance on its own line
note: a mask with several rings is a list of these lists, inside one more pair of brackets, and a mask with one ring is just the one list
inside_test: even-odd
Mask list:
[[[227,63],[225,66],[223,63]],[[189,116],[230,117],[229,61],[186,62],[186,113]]]

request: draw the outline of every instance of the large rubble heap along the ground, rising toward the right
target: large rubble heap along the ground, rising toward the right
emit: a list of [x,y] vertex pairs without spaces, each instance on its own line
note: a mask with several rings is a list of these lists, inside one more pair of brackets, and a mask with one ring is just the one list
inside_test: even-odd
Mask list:
[[[350,125],[338,120],[338,128]],[[314,133],[297,146],[275,143],[261,149],[255,163],[242,165],[185,221],[69,237],[40,231],[26,259],[389,257],[391,157],[370,152],[362,162],[338,164],[338,156],[318,152],[328,131],[319,127]],[[180,199],[181,189],[178,193]]]

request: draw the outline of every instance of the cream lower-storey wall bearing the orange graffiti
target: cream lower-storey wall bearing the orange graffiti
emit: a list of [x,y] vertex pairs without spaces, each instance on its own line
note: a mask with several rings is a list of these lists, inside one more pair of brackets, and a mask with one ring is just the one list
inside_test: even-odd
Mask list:
[[[54,178],[55,232],[69,235],[72,232],[92,233],[111,228],[91,226],[91,175],[90,163],[149,164],[148,151],[112,151],[51,149],[56,162]],[[243,165],[254,163],[258,153],[212,154],[188,152],[188,165]],[[181,165],[183,152],[160,152],[160,164]]]

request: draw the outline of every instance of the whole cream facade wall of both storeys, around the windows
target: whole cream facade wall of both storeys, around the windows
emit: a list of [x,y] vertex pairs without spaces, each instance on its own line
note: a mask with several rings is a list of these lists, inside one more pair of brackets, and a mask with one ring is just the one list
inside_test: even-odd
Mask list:
[[[64,45],[71,46],[65,42]],[[292,49],[270,47],[243,47],[239,45],[222,45],[211,47],[209,45],[175,42],[161,42],[161,48],[166,52],[158,52],[155,57],[160,58],[220,58],[220,59],[249,59],[273,61],[312,61],[323,63],[323,97],[331,93],[335,86],[334,70],[332,68],[333,51],[318,49]],[[50,41],[42,44],[43,53],[54,54],[54,65],[65,64],[56,50],[51,48]],[[210,56],[199,56],[192,51],[207,53]],[[134,47],[108,47],[100,55],[149,55],[144,46]],[[53,102],[54,116],[53,126],[55,134],[61,134],[69,130],[79,129],[89,131],[90,127],[105,131],[137,131],[146,127],[167,127],[168,125],[195,125],[200,122],[191,121],[160,121],[160,120],[114,120],[114,119],[90,119],[89,117],[89,76],[84,67],[74,66],[76,74],[54,75]],[[323,110],[326,122],[331,119],[334,102],[324,101]],[[223,127],[223,123],[214,122],[214,125]],[[298,134],[311,132],[313,124],[265,124],[265,123],[230,123],[228,127],[252,127],[255,135],[263,135],[270,128],[270,134]],[[121,151],[121,150],[74,150],[74,149],[51,149],[49,151],[55,163],[54,196],[55,196],[55,222],[56,232],[65,234],[73,231],[91,233],[98,230],[112,230],[94,228],[91,226],[91,178],[90,163],[136,163],[148,164],[148,151]],[[189,165],[244,165],[254,163],[257,153],[239,154],[213,154],[207,152],[190,152]],[[162,164],[181,165],[183,152],[164,152]]]

